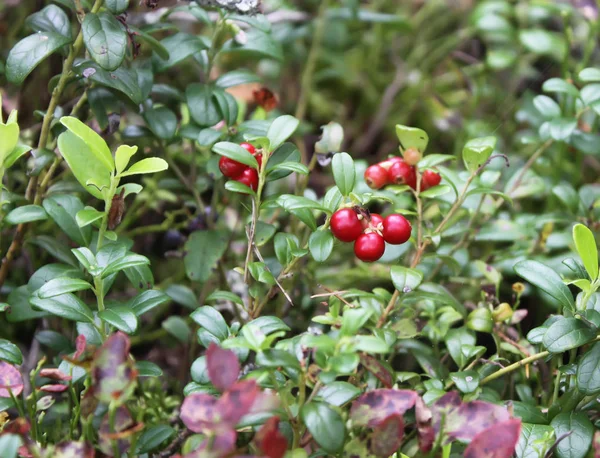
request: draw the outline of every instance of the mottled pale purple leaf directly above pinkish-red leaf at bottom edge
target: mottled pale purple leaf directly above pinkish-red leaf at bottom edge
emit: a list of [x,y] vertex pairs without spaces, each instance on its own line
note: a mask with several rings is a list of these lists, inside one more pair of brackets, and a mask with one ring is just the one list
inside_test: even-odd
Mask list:
[[444,433],[451,439],[471,440],[483,430],[508,421],[510,413],[504,406],[471,401],[451,410],[444,424]]

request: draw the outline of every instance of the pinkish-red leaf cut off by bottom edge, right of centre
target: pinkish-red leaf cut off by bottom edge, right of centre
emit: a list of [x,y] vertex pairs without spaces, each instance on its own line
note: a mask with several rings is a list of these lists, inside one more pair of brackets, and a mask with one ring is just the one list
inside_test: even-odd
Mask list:
[[521,420],[496,423],[479,434],[465,449],[465,458],[510,458],[521,434]]

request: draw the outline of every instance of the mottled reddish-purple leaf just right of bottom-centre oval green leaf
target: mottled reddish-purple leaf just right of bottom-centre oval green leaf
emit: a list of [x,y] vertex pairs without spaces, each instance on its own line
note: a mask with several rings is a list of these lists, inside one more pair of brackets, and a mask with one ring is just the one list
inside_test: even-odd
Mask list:
[[355,426],[377,426],[391,415],[404,414],[417,398],[417,393],[410,390],[369,391],[352,403],[350,418]]

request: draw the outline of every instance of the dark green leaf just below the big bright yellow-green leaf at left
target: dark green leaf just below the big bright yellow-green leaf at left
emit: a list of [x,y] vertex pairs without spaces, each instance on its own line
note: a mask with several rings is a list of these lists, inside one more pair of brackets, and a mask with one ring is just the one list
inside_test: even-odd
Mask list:
[[75,216],[83,210],[83,204],[78,197],[70,194],[51,195],[44,199],[43,205],[46,212],[71,240],[81,246],[89,244],[92,228],[82,228],[77,224]]

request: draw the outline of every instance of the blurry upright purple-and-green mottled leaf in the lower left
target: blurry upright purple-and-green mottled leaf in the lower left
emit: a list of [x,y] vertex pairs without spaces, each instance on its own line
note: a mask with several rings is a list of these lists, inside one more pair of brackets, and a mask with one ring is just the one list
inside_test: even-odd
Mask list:
[[137,372],[129,357],[129,346],[129,337],[119,331],[106,339],[94,356],[94,393],[106,404],[124,402],[135,387]]

